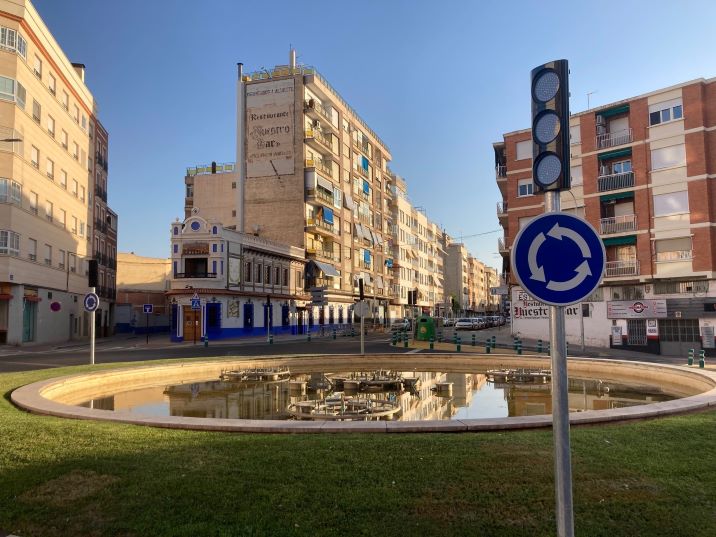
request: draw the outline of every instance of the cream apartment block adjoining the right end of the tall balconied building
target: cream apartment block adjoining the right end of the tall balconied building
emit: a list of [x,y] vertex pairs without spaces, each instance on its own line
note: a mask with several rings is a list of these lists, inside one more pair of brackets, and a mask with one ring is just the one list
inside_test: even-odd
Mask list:
[[[439,316],[445,307],[443,232],[424,210],[411,204],[405,180],[389,173],[393,188],[393,316]],[[408,304],[408,291],[417,291],[416,307]]]

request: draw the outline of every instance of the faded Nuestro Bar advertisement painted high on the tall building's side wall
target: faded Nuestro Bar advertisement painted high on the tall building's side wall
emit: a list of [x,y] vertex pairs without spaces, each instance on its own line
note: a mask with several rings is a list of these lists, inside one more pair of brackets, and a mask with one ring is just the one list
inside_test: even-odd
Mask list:
[[292,78],[246,87],[246,176],[291,175],[294,81]]

